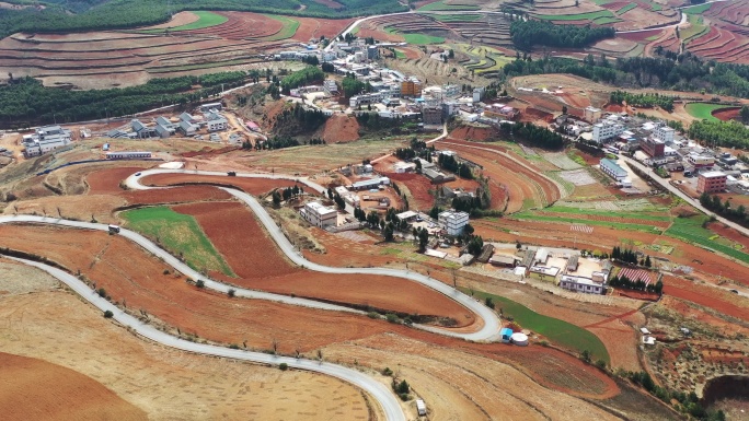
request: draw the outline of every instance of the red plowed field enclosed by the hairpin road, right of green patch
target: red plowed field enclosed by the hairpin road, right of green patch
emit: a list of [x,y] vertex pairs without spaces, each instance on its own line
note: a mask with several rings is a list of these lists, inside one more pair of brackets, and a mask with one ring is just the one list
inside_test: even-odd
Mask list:
[[415,282],[392,277],[327,274],[290,266],[242,203],[206,202],[173,209],[197,219],[208,238],[240,277],[222,277],[227,282],[287,295],[452,317],[460,326],[475,320],[454,301]]

